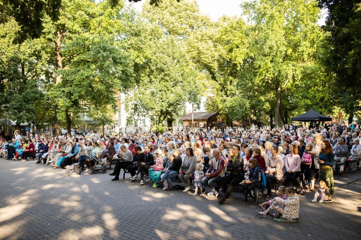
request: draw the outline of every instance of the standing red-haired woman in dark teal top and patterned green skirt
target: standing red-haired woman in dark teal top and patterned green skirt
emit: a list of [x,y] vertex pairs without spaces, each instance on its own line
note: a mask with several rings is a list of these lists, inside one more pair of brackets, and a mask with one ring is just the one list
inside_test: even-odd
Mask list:
[[335,184],[334,184],[334,172],[332,166],[335,164],[333,149],[328,140],[323,140],[321,142],[321,151],[318,157],[319,163],[319,180],[325,181],[327,187],[329,188],[330,195],[329,199],[324,200],[324,203],[332,202],[332,195],[335,194]]

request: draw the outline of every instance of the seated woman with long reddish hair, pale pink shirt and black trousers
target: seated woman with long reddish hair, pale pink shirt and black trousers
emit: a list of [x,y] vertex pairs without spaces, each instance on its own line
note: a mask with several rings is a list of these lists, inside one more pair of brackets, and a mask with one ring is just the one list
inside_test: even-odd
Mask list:
[[302,195],[304,192],[301,189],[301,185],[297,178],[300,177],[301,173],[301,158],[298,155],[298,149],[296,145],[291,144],[289,147],[290,154],[286,155],[286,187],[288,187],[288,183],[292,182],[293,186],[296,187],[296,193],[298,195]]

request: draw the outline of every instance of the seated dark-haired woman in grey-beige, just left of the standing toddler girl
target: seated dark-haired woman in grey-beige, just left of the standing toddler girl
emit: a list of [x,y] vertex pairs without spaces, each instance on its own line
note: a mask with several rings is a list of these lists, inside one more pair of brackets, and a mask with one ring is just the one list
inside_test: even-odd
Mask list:
[[186,150],[186,156],[183,159],[183,163],[181,169],[179,169],[178,178],[183,183],[184,187],[186,187],[183,192],[187,192],[191,189],[191,181],[190,178],[194,174],[196,170],[196,157],[193,154],[193,149],[188,147]]

